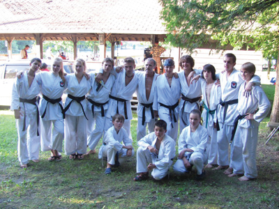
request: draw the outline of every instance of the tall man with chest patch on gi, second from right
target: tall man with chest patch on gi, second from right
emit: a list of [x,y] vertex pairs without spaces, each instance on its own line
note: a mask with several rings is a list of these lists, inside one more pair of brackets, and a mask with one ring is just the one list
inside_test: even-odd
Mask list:
[[[222,102],[218,105],[216,110],[216,123],[217,129],[220,127],[220,130],[217,132],[217,144],[218,144],[218,167],[215,170],[228,169],[224,172],[226,175],[232,173],[232,160],[229,163],[229,141],[232,137],[232,129],[234,125],[234,119],[238,115],[236,111],[239,88],[243,83],[241,73],[239,70],[234,68],[236,65],[236,56],[234,54],[228,53],[224,56],[224,68],[225,72],[219,74],[221,91],[222,91]],[[255,84],[260,84],[260,78],[254,76],[247,88],[252,88],[252,82]],[[234,151],[234,145],[231,146],[231,157],[232,152]],[[236,145],[239,146],[239,145]],[[237,153],[236,155],[241,155]]]

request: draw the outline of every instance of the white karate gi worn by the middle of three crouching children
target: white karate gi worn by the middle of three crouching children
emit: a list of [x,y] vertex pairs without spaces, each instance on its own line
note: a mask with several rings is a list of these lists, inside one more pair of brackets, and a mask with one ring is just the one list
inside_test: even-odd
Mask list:
[[137,173],[144,173],[147,171],[147,164],[153,163],[156,168],[153,169],[151,175],[156,180],[160,180],[167,176],[167,171],[172,165],[175,157],[175,141],[165,134],[163,141],[160,144],[158,157],[151,153],[148,146],[156,148],[157,137],[154,132],[147,134],[144,138],[137,141]]

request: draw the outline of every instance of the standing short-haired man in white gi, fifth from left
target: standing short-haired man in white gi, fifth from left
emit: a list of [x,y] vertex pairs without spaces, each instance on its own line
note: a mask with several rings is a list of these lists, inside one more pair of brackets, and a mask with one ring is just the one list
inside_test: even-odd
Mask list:
[[[135,72],[135,60],[132,57],[124,59],[124,69],[116,74],[116,80],[112,91],[110,93],[109,108],[107,109],[107,121],[105,123],[105,130],[112,127],[112,116],[115,114],[122,114],[125,116],[123,128],[126,130],[129,138],[132,140],[130,134],[130,120],[133,119],[130,100],[133,99],[133,93],[137,88],[139,82],[139,75],[143,72]],[[101,71],[100,71],[101,72]]]

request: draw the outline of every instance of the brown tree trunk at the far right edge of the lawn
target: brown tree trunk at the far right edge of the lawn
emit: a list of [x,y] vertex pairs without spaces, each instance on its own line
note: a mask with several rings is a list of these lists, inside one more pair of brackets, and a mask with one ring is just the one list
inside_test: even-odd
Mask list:
[[[279,53],[278,53],[278,60],[279,60]],[[279,123],[279,62],[277,62],[277,66],[276,66],[276,87],[275,87],[275,95],[274,95],[273,107],[271,111],[270,122]]]

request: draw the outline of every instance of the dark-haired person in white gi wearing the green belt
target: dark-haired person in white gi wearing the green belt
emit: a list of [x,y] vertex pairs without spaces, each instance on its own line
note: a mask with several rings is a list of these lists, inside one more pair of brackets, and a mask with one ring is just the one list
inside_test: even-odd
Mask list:
[[202,111],[203,125],[209,133],[209,140],[207,140],[206,144],[206,154],[209,157],[209,162],[206,165],[206,168],[211,169],[213,165],[217,164],[218,160],[217,129],[213,119],[217,104],[221,101],[221,88],[216,85],[216,70],[213,65],[204,65],[200,82],[202,86],[204,107],[204,110]]

